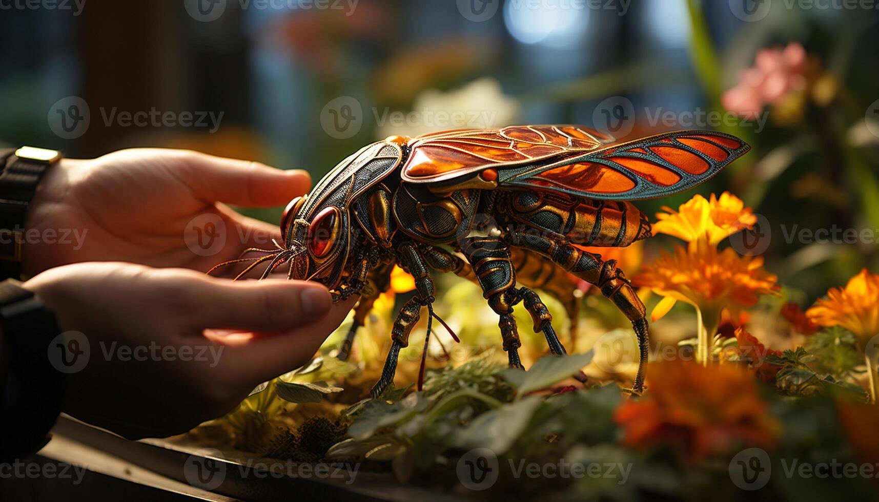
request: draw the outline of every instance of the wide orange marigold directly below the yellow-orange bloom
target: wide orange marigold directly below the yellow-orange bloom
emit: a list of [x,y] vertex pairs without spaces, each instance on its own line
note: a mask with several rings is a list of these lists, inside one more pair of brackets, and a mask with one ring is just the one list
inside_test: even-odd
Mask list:
[[700,240],[689,250],[663,251],[652,265],[643,267],[635,282],[657,295],[691,303],[703,313],[716,312],[719,320],[722,309],[737,317],[742,307],[753,307],[759,295],[774,295],[779,289],[778,278],[762,266],[761,257],[739,256],[730,248],[718,251]]

